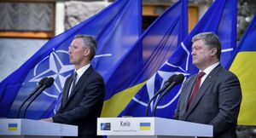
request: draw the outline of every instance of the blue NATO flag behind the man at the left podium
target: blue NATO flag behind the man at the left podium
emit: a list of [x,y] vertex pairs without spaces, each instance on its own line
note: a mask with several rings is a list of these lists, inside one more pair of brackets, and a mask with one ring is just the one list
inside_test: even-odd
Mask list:
[[[48,118],[53,115],[56,103],[61,101],[59,95],[65,80],[74,69],[69,63],[67,52],[73,37],[76,34],[96,37],[98,49],[92,65],[104,77],[141,34],[141,20],[141,1],[119,0],[99,14],[50,39],[0,83],[0,117],[15,118],[21,102],[44,77],[55,78],[55,83],[33,102],[27,112],[27,118]],[[105,63],[108,63],[108,66],[105,66]]]

